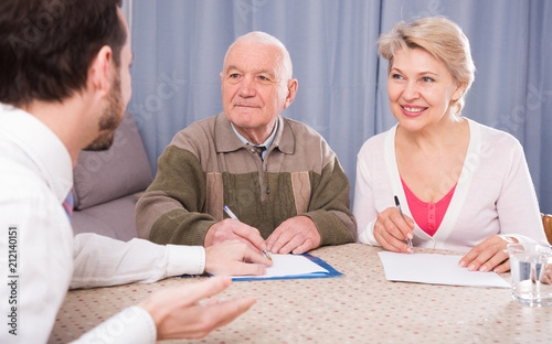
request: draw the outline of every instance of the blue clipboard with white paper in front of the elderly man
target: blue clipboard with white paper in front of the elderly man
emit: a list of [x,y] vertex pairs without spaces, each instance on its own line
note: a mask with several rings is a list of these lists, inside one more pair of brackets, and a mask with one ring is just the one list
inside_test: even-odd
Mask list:
[[302,255],[276,255],[270,254],[273,266],[266,268],[263,276],[232,276],[235,281],[240,280],[266,280],[266,279],[290,279],[290,278],[320,278],[341,276],[322,259],[309,254]]

